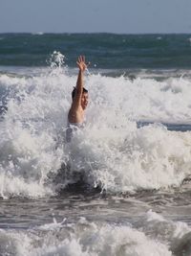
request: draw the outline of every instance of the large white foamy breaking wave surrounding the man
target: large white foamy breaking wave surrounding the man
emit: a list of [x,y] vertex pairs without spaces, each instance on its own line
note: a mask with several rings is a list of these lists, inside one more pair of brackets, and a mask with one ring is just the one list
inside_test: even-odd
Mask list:
[[[70,181],[73,171],[83,173],[88,184],[111,192],[179,186],[190,174],[190,131],[136,124],[191,124],[188,79],[87,76],[87,126],[67,145],[64,132],[76,76],[59,63],[52,67],[40,76],[0,76],[0,87],[10,97],[0,122],[2,197],[53,193],[54,185],[45,185],[47,175],[56,173],[63,162],[70,162]],[[65,185],[67,180],[61,182]]]

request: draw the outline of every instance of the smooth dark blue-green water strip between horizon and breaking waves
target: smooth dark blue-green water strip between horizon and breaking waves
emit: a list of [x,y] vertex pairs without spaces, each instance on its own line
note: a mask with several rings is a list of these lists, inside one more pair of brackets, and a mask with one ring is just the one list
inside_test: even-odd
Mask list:
[[0,65],[46,66],[53,51],[61,52],[70,66],[85,55],[104,69],[191,67],[191,35],[0,35]]

